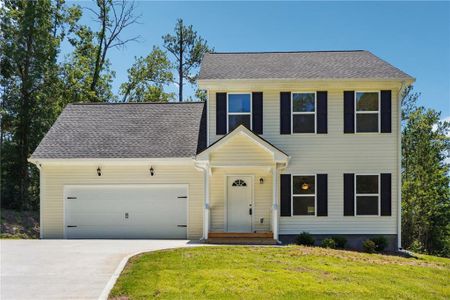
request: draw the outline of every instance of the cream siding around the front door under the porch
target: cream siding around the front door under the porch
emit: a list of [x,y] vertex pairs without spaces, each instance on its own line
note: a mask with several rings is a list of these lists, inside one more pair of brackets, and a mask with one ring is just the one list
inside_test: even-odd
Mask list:
[[[225,230],[225,197],[227,188],[227,175],[250,175],[253,179],[253,230],[270,231],[272,213],[272,174],[264,169],[257,168],[218,168],[213,170],[210,179],[210,231],[223,232]],[[264,183],[260,184],[259,179]],[[260,223],[260,218],[264,222]]]

